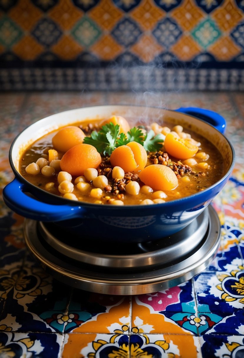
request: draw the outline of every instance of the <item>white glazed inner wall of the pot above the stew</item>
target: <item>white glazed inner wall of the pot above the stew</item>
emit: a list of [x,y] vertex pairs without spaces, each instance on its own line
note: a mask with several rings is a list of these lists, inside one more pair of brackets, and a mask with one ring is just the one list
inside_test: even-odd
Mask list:
[[202,136],[209,139],[221,152],[225,160],[225,173],[230,169],[233,162],[233,153],[228,140],[215,128],[204,121],[198,120],[195,117],[185,115],[179,112],[164,110],[162,108],[145,107],[145,106],[121,106],[121,105],[107,105],[107,106],[93,106],[78,108],[52,116],[43,118],[35,122],[33,125],[27,127],[16,138],[12,147],[11,157],[15,169],[19,172],[19,160],[24,150],[27,149],[33,142],[43,135],[51,132],[59,127],[72,124],[74,122],[89,120],[89,119],[103,119],[109,118],[112,115],[124,116],[128,122],[130,118],[137,118],[141,124],[151,122],[167,121],[172,125],[181,124],[184,129],[192,129]]

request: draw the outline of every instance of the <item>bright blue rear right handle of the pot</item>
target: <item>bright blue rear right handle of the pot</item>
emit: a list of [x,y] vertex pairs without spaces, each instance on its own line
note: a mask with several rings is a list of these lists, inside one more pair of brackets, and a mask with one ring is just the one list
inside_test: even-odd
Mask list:
[[177,112],[186,113],[191,116],[195,116],[200,118],[202,121],[208,122],[212,126],[214,126],[220,133],[224,133],[226,128],[225,119],[220,116],[218,113],[210,110],[206,110],[204,108],[197,107],[181,107],[175,110]]

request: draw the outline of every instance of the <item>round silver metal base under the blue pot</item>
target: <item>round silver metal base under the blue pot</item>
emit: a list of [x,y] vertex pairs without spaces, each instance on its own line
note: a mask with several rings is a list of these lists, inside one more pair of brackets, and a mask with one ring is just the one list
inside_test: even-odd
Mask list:
[[[129,253],[130,244],[128,244],[127,255],[114,253],[94,255],[94,252],[79,250],[78,256],[73,257],[72,251],[77,252],[77,248],[70,251],[71,247],[68,245],[66,245],[67,250],[63,244],[53,245],[57,239],[54,241],[50,239],[52,235],[45,233],[47,231],[45,226],[30,219],[25,220],[24,236],[31,253],[55,279],[87,291],[111,295],[133,295],[156,292],[179,285],[199,274],[209,265],[216,255],[220,242],[218,215],[209,205],[190,225],[189,232],[196,231],[198,227],[201,227],[201,231],[203,227],[206,229],[202,232],[200,240],[199,236],[194,237],[195,245],[189,237],[179,242],[170,240],[169,245],[166,247],[163,245],[157,250],[155,248],[160,241],[152,242],[148,246],[152,247],[153,251],[149,251],[146,244],[143,246],[138,244],[139,253],[133,253],[133,255]],[[176,248],[179,250],[177,251]],[[164,255],[165,252],[167,255]],[[143,255],[145,255],[144,258]],[[170,261],[167,260],[168,256]],[[99,257],[101,260],[98,260]],[[153,257],[156,259],[153,260]],[[115,264],[116,260],[119,265]]]

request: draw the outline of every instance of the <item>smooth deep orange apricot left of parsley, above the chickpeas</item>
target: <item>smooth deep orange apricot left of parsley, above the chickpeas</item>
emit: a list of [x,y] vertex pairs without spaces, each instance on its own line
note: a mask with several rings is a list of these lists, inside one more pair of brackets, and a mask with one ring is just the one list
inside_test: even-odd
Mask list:
[[101,155],[93,145],[78,144],[64,153],[60,168],[73,176],[80,176],[88,168],[96,169],[101,161]]

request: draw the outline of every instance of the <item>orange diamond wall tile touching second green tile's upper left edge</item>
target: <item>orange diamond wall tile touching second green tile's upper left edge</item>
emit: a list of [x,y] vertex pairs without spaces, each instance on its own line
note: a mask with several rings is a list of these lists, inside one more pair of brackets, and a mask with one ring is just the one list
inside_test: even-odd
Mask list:
[[83,16],[83,12],[76,8],[71,0],[60,0],[49,12],[50,18],[56,21],[63,29],[71,29]]

